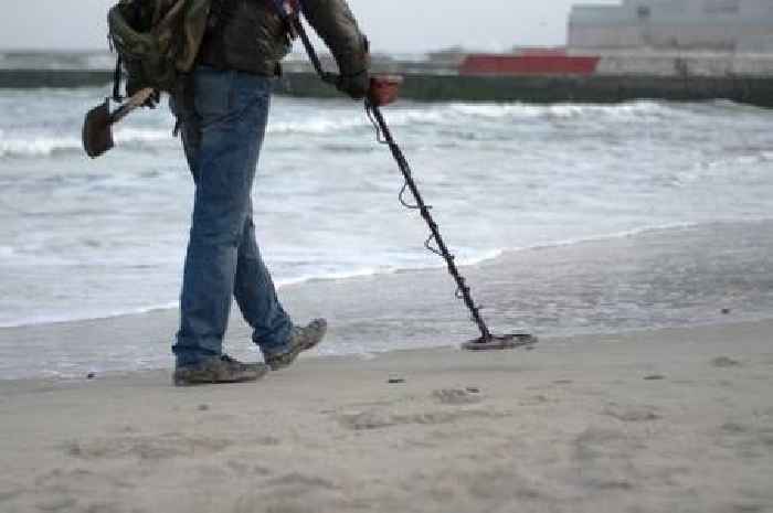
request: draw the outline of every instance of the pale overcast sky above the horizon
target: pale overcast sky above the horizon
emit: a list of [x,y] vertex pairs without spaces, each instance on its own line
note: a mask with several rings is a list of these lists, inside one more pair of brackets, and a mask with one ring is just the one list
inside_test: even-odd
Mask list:
[[[115,1],[0,0],[0,49],[104,49],[105,13]],[[563,44],[566,15],[576,2],[350,0],[349,4],[374,50],[420,52],[455,44],[487,51]]]

